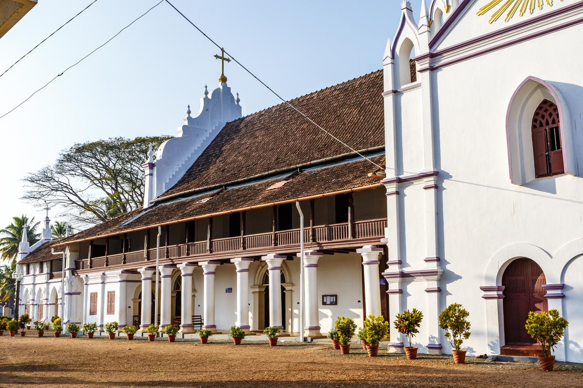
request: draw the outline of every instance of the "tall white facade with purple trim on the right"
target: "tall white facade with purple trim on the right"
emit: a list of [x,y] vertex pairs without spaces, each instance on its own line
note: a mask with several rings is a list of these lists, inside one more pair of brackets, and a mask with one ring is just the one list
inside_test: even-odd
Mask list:
[[[571,322],[557,359],[583,362],[583,3],[517,10],[506,23],[510,8],[489,23],[501,5],[478,16],[486,1],[442,3],[423,2],[417,21],[403,2],[385,51],[391,315],[421,309],[415,346],[450,353],[437,314],[461,303],[468,354],[498,354],[503,273],[528,258],[544,272],[548,308]],[[442,26],[430,22],[436,8]],[[531,122],[543,99],[559,107],[564,173],[535,178]],[[391,329],[392,350],[403,339]]]

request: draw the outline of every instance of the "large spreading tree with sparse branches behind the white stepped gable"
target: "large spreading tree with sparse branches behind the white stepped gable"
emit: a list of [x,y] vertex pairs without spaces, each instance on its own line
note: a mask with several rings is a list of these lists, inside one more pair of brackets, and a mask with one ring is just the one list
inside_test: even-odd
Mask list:
[[124,137],[77,143],[52,166],[24,177],[24,200],[64,209],[73,224],[97,225],[143,204],[142,163],[150,144],[170,136]]

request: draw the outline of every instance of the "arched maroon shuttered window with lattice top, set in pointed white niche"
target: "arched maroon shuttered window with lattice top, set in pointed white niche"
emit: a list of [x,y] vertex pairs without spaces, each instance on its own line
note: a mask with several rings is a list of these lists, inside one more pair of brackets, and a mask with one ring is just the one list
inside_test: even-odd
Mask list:
[[535,176],[538,178],[564,173],[557,105],[544,99],[536,108],[531,129]]

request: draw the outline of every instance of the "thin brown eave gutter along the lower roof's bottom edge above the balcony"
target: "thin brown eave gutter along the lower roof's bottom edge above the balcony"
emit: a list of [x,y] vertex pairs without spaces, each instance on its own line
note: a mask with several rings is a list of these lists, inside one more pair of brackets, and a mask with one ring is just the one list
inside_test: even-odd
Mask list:
[[182,218],[182,219],[178,219],[178,220],[174,220],[174,221],[170,221],[170,222],[161,222],[161,223],[156,223],[156,224],[152,224],[152,225],[148,225],[148,226],[136,227],[136,228],[133,228],[133,229],[120,230],[119,232],[115,232],[115,233],[101,234],[100,236],[86,237],[85,239],[72,240],[72,241],[64,241],[63,243],[55,244],[55,245],[52,245],[52,246],[53,247],[60,247],[62,245],[68,245],[68,244],[73,244],[73,243],[80,243],[82,241],[90,241],[90,240],[104,239],[104,238],[110,237],[110,236],[118,236],[118,235],[123,234],[123,233],[139,232],[141,230],[151,229],[153,227],[158,227],[158,226],[173,225],[175,223],[193,221],[193,220],[202,219],[202,218],[210,218],[210,217],[222,216],[222,215],[231,214],[231,213],[240,213],[240,212],[243,212],[243,211],[248,211],[248,210],[253,210],[253,209],[268,208],[268,207],[272,207],[272,206],[275,206],[275,205],[292,204],[293,202],[296,202],[296,201],[308,201],[308,200],[315,200],[317,198],[332,197],[333,195],[346,194],[346,193],[351,193],[351,192],[354,192],[354,191],[369,190],[371,188],[378,188],[378,187],[384,187],[384,186],[382,185],[382,183],[373,183],[373,184],[368,184],[367,186],[360,186],[360,187],[353,187],[353,188],[345,188],[344,190],[331,191],[330,193],[308,195],[308,197],[294,198],[292,200],[284,200],[284,201],[270,202],[268,204],[247,206],[247,207],[244,207],[244,208],[226,210],[226,211],[222,211],[222,212],[208,213],[208,214],[203,214],[203,215],[199,215],[199,216],[192,216],[192,217],[189,217],[189,218]]

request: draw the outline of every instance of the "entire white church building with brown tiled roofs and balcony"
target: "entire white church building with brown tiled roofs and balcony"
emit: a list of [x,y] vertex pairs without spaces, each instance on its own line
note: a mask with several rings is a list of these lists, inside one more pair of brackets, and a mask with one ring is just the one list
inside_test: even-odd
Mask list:
[[[528,311],[558,309],[557,360],[583,362],[583,1],[401,9],[381,70],[289,101],[352,149],[288,104],[241,116],[223,73],[147,155],[143,209],[23,240],[21,307],[312,338],[417,308],[414,346],[449,354],[437,317],[456,302],[468,355],[528,352]],[[405,341],[391,325],[388,351]]]

